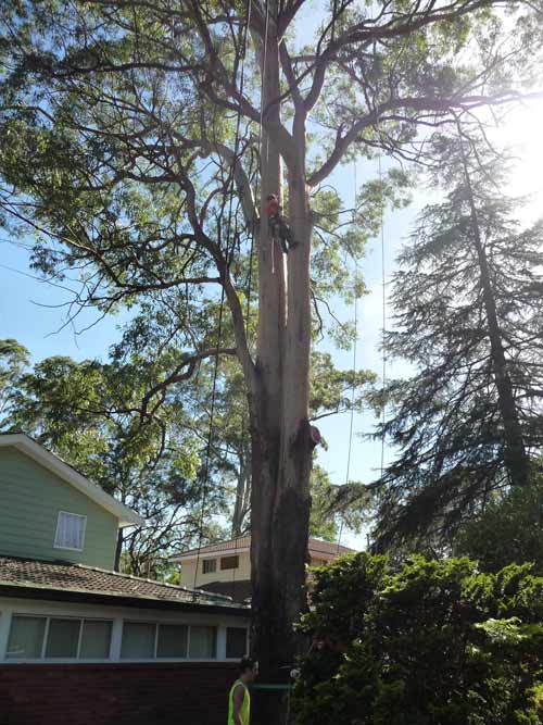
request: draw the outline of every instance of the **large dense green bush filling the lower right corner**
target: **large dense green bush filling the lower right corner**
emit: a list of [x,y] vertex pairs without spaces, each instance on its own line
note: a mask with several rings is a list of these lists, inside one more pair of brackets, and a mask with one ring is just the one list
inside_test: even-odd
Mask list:
[[315,572],[298,725],[543,723],[543,578],[468,559],[382,557]]

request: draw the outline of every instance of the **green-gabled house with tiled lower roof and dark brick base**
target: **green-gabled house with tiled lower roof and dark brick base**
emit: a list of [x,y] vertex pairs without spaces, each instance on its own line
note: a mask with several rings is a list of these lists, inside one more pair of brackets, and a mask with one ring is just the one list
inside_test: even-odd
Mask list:
[[111,571],[118,528],[142,523],[27,436],[0,435],[1,725],[225,720],[249,611]]

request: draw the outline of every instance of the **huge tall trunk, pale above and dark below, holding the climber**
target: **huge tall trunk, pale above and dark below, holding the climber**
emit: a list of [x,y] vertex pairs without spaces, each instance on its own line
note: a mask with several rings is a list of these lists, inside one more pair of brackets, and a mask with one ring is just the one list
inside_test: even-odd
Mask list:
[[[276,5],[269,2],[270,18],[277,16]],[[279,123],[279,47],[272,21],[263,74],[264,117]],[[265,133],[261,153],[258,389],[251,405],[252,651],[261,665],[260,683],[272,685],[288,683],[300,649],[292,625],[306,605],[311,220],[303,163],[288,159],[290,221],[300,243],[288,257],[287,289],[287,260],[269,237],[264,213],[266,196],[281,193],[281,160]],[[302,138],[302,162],[303,155]],[[282,725],[286,690],[256,690],[255,696],[254,724]]]

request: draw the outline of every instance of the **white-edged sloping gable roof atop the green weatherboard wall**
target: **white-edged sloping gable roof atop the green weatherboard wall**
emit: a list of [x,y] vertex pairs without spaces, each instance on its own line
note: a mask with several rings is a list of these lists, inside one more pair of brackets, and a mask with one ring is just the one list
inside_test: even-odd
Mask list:
[[106,493],[100,486],[92,484],[88,478],[83,476],[67,463],[64,463],[58,455],[48,451],[47,448],[37,443],[25,433],[0,434],[0,448],[8,448],[9,446],[25,453],[25,455],[28,455],[28,458],[31,458],[45,468],[54,473],[59,478],[62,478],[78,491],[85,493],[91,501],[98,503],[99,507],[102,507],[102,509],[112,513],[118,518],[118,525],[121,527],[134,525],[141,526],[146,523],[146,520],[137,514],[136,511],[132,511],[124,503],[121,503],[121,501],[114,499],[113,496]]

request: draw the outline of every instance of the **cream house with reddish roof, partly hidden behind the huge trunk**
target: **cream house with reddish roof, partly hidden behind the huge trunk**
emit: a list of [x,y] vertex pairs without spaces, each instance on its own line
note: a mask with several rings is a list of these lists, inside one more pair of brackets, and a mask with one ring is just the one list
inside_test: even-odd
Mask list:
[[[310,538],[310,565],[324,566],[354,549]],[[251,537],[242,536],[220,543],[184,551],[169,558],[180,564],[181,586],[228,595],[236,601],[251,597]]]

